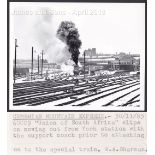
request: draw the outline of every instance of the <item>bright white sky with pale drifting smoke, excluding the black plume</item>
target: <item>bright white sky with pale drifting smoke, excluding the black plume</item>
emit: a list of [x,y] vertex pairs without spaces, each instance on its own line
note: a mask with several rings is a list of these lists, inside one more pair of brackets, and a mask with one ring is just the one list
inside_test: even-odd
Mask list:
[[10,50],[14,53],[17,38],[17,58],[31,58],[32,46],[38,53],[44,49],[46,57],[51,57],[52,51],[55,56],[65,46],[56,38],[56,30],[64,20],[73,21],[78,28],[81,53],[88,48],[106,54],[141,53],[145,49],[145,4],[142,3],[18,2],[11,3],[10,9]]

